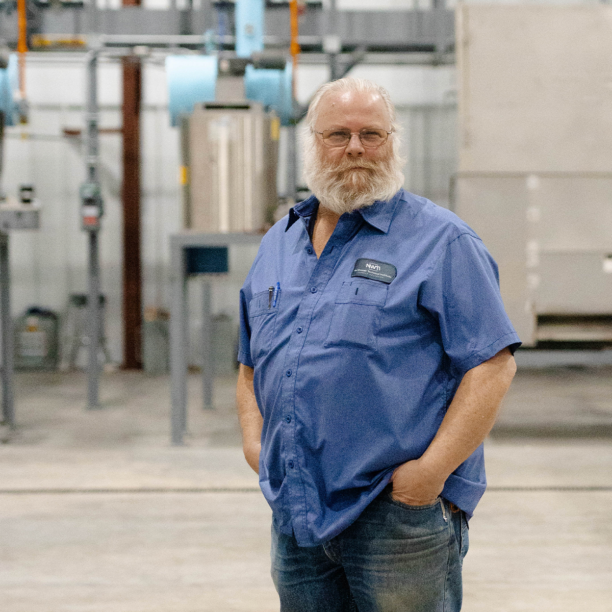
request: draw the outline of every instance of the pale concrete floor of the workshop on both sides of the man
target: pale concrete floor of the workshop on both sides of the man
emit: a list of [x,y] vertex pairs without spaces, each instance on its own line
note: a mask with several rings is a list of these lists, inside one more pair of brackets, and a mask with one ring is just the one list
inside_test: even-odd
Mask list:
[[[107,374],[100,411],[83,409],[84,383],[18,375],[19,427],[0,432],[0,610],[277,611],[233,379],[204,413],[190,377],[181,448],[167,378]],[[486,444],[463,610],[612,610],[611,424],[610,368],[518,373]]]

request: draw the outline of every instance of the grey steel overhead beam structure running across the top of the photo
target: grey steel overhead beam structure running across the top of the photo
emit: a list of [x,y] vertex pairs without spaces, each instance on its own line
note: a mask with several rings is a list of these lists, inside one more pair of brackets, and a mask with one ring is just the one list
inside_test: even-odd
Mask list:
[[[335,4],[335,3],[332,3]],[[0,37],[17,45],[17,12],[0,3]],[[286,53],[290,44],[289,5],[266,4],[266,56]],[[301,63],[324,64],[337,58],[338,70],[356,63],[448,64],[454,61],[454,11],[337,11],[306,4],[299,19]],[[98,9],[81,2],[28,3],[31,50],[103,47],[215,48],[234,50],[234,2],[204,2],[190,9],[124,6]],[[92,37],[95,37],[92,39]]]

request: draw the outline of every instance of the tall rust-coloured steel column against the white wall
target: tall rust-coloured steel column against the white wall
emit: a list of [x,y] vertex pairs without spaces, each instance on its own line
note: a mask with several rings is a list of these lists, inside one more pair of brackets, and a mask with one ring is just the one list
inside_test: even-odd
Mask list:
[[[136,4],[135,2],[125,2]],[[140,2],[138,2],[140,4]],[[124,368],[140,368],[140,59],[126,56],[123,64],[123,337]]]

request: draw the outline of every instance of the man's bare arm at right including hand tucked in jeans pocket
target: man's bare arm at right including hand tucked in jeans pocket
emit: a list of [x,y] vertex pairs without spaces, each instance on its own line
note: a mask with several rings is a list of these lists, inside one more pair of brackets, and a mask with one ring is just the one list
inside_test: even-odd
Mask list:
[[516,371],[514,357],[505,348],[465,373],[427,450],[395,470],[392,476],[395,499],[412,506],[436,500],[446,479],[491,431]]

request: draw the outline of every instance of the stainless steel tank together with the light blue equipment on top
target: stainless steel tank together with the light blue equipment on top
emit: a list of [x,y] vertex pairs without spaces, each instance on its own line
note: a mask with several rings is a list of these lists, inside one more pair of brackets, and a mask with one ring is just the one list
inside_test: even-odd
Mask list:
[[272,221],[280,125],[294,122],[293,63],[263,56],[263,32],[263,0],[237,0],[236,57],[166,58],[186,228],[252,232]]

